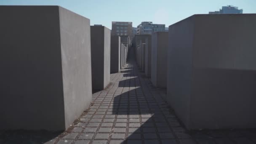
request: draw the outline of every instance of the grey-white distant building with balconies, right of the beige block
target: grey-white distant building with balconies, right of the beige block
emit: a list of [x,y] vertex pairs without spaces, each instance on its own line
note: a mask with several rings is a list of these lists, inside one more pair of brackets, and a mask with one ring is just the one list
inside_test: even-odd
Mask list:
[[153,24],[151,21],[143,21],[137,26],[137,35],[151,35],[152,32],[165,32],[165,24]]

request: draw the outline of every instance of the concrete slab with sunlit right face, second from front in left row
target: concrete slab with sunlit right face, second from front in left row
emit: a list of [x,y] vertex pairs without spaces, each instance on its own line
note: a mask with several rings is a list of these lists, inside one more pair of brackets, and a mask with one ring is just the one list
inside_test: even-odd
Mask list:
[[92,88],[103,90],[110,81],[110,29],[91,26]]

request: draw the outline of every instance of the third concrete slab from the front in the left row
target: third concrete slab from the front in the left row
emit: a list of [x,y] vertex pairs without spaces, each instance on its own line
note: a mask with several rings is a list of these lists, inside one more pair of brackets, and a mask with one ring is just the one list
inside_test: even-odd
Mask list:
[[120,72],[120,37],[111,36],[110,72]]

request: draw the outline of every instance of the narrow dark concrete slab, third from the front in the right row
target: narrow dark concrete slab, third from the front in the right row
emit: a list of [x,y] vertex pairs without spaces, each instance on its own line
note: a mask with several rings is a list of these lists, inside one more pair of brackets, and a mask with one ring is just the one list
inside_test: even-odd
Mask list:
[[145,38],[145,75],[151,77],[151,36]]

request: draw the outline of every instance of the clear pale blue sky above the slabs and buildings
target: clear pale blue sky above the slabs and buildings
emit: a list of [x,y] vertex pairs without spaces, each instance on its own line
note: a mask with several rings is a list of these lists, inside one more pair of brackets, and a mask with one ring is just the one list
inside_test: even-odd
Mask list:
[[0,0],[0,5],[60,5],[111,29],[112,21],[141,21],[168,27],[193,14],[218,11],[234,5],[243,13],[256,13],[256,0]]

